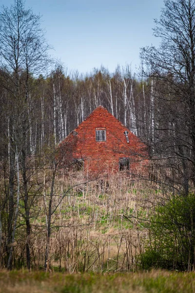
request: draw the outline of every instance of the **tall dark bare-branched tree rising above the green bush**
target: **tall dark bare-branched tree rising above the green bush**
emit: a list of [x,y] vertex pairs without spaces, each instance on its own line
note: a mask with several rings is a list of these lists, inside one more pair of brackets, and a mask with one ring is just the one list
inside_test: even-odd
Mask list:
[[[159,105],[156,113],[161,122],[155,140],[161,144],[161,155],[174,158],[177,166],[180,165],[180,183],[187,195],[190,180],[195,186],[195,1],[165,0],[155,23],[154,35],[161,40],[159,47],[141,50],[155,78],[151,96],[155,92]],[[164,87],[159,86],[160,83]],[[175,105],[173,112],[170,101]],[[151,119],[154,125],[154,117]],[[174,120],[169,126],[177,129],[166,132],[165,120]],[[164,133],[169,133],[169,138]]]

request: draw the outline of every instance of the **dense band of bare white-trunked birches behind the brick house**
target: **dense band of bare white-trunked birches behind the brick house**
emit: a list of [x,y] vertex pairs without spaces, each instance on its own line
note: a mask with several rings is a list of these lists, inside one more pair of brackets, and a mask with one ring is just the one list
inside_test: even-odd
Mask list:
[[28,85],[23,84],[26,73],[22,72],[22,93],[16,98],[6,72],[1,70],[2,158],[9,157],[11,143],[16,153],[24,120],[26,156],[31,157],[42,154],[45,146],[57,146],[98,105],[103,105],[148,146],[162,180],[167,180],[173,190],[176,187],[176,192],[181,189],[188,193],[195,168],[189,129],[192,115],[187,114],[183,100],[185,87],[175,83],[173,75],[162,77],[150,72],[143,77],[142,72],[142,77],[136,76],[126,65],[117,66],[115,73],[101,67],[79,76],[78,72],[68,75],[61,65],[56,67],[47,78],[30,75]]

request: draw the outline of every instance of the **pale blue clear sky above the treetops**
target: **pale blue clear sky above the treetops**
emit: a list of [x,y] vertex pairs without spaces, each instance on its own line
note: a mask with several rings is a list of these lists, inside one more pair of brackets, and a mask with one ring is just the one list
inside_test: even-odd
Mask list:
[[159,43],[152,28],[163,0],[26,0],[26,7],[42,15],[51,54],[80,73],[101,64],[114,72],[126,63],[135,71],[139,48]]

